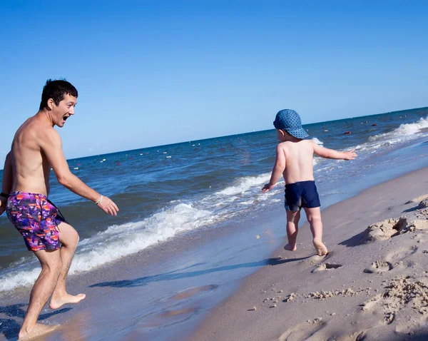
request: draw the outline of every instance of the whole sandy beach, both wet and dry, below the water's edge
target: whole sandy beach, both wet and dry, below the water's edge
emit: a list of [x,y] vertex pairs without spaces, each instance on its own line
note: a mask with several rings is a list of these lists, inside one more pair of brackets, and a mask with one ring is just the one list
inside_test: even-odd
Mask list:
[[[277,203],[250,224],[184,233],[73,275],[68,290],[86,300],[45,307],[40,322],[61,327],[39,340],[426,340],[427,175],[323,210],[325,258],[307,225],[295,253],[282,249]],[[16,340],[30,289],[0,296],[1,340]]]

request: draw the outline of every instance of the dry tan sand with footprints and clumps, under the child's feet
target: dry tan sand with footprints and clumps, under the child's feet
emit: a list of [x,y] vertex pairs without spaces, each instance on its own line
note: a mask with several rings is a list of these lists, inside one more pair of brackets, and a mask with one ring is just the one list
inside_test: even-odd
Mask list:
[[330,206],[329,255],[303,226],[191,340],[428,340],[427,193],[424,168]]

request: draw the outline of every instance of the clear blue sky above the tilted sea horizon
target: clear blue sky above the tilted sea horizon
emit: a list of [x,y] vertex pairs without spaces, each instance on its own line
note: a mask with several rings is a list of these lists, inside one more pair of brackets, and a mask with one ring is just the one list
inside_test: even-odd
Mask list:
[[[120,2],[120,4],[119,4]],[[47,78],[67,158],[428,106],[424,1],[1,1],[0,163]]]

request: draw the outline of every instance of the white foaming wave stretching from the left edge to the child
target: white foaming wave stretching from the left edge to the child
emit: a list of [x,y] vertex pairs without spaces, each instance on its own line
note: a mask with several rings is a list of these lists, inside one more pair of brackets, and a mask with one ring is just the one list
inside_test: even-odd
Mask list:
[[[260,193],[261,185],[267,183],[269,178],[270,173],[238,178],[233,185],[195,203],[174,200],[170,202],[169,208],[146,219],[109,226],[91,238],[81,240],[69,274],[92,270],[138,253],[151,245],[173,238],[180,232],[212,226],[242,213],[243,209],[250,208],[255,203],[270,200],[272,195]],[[12,265],[1,274],[0,291],[32,285],[39,273],[39,263],[33,260]]]

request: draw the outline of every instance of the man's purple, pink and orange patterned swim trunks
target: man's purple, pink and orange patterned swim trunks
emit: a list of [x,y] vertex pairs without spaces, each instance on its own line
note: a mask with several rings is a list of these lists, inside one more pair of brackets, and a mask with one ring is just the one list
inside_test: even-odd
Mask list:
[[58,250],[58,225],[66,220],[46,195],[12,192],[7,200],[6,214],[30,251]]

